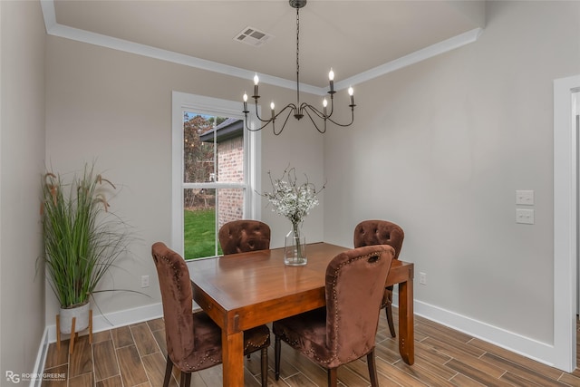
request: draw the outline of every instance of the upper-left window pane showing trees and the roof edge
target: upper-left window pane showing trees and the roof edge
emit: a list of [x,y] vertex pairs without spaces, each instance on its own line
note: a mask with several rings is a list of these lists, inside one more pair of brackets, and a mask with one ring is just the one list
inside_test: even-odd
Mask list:
[[190,111],[183,115],[183,181],[186,183],[215,179],[214,121],[214,117]]

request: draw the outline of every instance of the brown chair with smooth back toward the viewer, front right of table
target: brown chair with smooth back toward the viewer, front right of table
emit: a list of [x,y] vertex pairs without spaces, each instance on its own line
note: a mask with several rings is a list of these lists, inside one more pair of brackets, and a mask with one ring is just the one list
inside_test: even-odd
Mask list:
[[371,385],[379,385],[374,341],[393,258],[394,249],[384,245],[354,248],[333,257],[326,267],[326,306],[272,324],[276,380],[284,341],[328,370],[329,387],[336,386],[340,365],[364,355]]

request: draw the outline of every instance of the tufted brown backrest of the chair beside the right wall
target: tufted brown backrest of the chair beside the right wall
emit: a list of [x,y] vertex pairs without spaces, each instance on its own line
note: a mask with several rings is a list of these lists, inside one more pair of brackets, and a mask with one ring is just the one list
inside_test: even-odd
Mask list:
[[354,227],[354,247],[389,245],[399,259],[405,233],[399,225],[387,220],[363,220]]

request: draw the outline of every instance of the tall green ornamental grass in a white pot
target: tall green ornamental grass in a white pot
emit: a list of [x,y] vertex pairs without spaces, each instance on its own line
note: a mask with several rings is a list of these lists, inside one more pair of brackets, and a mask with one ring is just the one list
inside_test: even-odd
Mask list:
[[130,231],[109,211],[107,198],[116,188],[94,165],[70,181],[49,171],[42,188],[45,272],[61,306],[61,333],[76,333],[89,326],[90,298],[127,252]]

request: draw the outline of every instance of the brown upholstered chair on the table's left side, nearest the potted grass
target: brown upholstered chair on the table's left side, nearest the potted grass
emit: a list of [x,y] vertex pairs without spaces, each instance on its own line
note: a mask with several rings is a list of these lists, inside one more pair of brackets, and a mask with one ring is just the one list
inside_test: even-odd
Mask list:
[[[167,341],[167,366],[163,386],[169,386],[175,365],[181,372],[179,385],[191,383],[191,372],[222,363],[221,328],[203,311],[192,313],[193,295],[189,269],[178,253],[162,242],[151,247],[160,281],[163,319]],[[262,386],[267,386],[267,348],[270,330],[266,325],[244,331],[244,353],[261,351]]]

